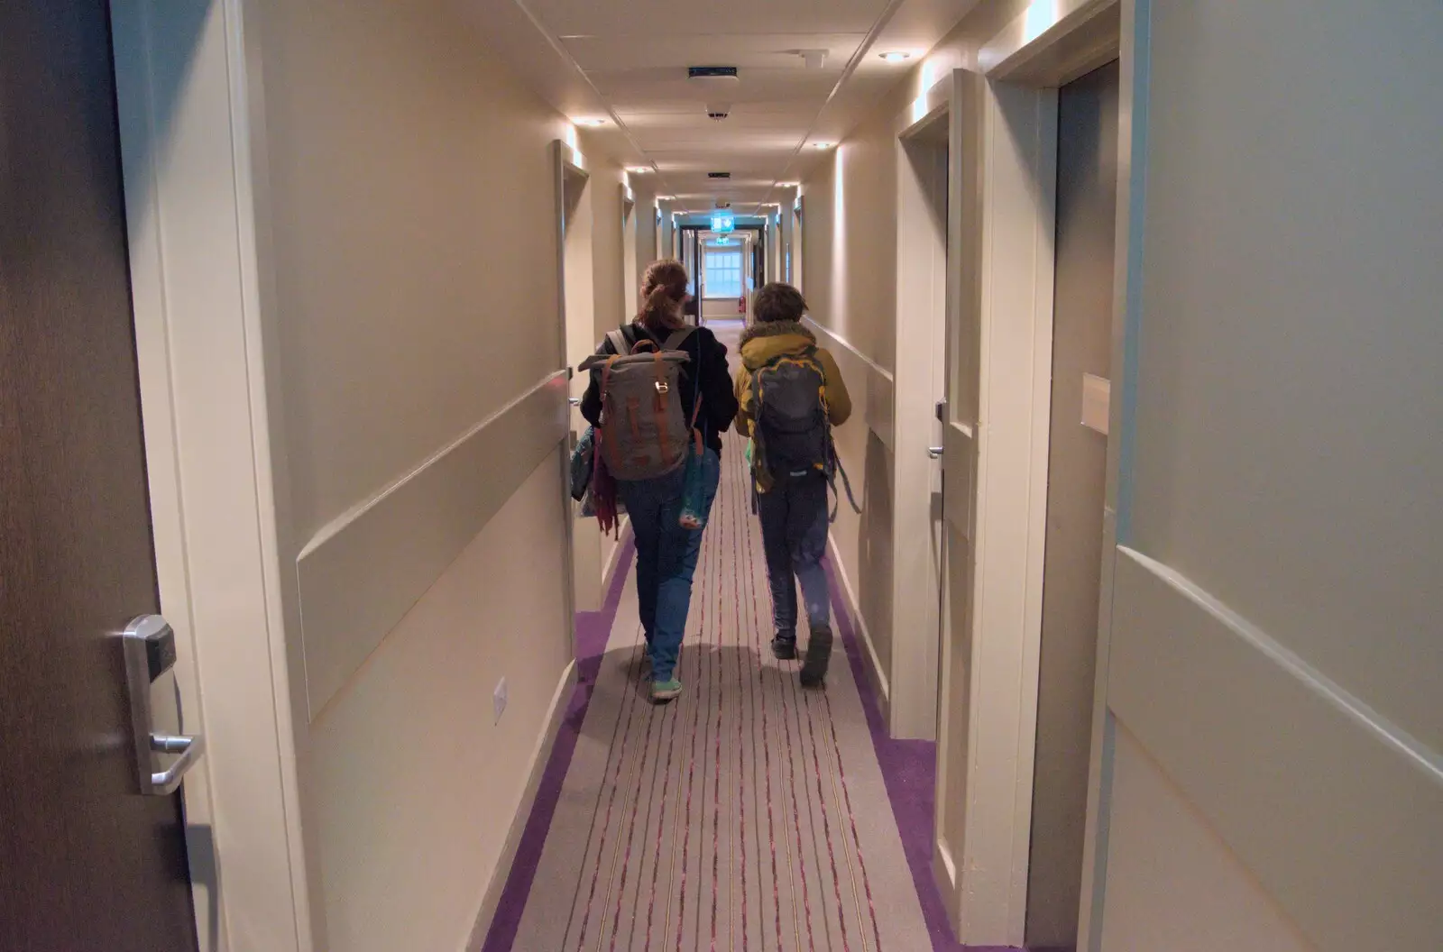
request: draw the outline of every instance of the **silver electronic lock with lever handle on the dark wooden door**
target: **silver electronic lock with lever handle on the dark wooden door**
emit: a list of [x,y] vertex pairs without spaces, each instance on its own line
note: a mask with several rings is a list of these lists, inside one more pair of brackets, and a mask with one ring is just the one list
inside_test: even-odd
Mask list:
[[[126,689],[130,694],[130,723],[136,744],[136,779],[140,793],[167,796],[179,789],[185,775],[205,752],[199,734],[156,731],[152,685],[176,664],[176,633],[159,614],[141,614],[121,633],[126,655]],[[176,701],[179,707],[179,701]],[[160,756],[176,756],[170,766]]]

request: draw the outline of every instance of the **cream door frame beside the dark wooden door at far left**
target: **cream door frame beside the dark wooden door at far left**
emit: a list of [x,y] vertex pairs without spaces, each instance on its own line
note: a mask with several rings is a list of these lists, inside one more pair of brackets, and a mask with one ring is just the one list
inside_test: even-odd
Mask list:
[[208,740],[182,788],[199,948],[304,952],[325,936],[300,822],[304,685],[284,638],[289,475],[267,415],[257,25],[242,0],[110,10],[160,606],[188,721]]

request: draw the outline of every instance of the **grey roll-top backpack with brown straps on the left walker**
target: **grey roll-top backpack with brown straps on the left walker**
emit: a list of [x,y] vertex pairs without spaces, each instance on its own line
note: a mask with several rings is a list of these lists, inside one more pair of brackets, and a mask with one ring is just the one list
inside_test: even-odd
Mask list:
[[691,327],[675,332],[658,351],[649,339],[633,348],[620,330],[613,330],[606,338],[616,353],[597,353],[582,363],[583,371],[600,375],[597,437],[613,479],[655,479],[687,460],[691,427],[681,405],[680,382],[681,365],[691,358],[678,348],[691,332]]

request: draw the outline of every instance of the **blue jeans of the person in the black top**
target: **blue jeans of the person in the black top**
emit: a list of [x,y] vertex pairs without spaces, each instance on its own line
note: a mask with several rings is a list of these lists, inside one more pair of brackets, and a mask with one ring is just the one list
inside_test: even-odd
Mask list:
[[[711,450],[701,457],[703,512],[711,512],[722,479],[722,460]],[[691,609],[691,576],[697,571],[704,529],[684,529],[681,493],[685,467],[657,479],[618,480],[636,538],[636,601],[646,632],[652,678],[670,681],[687,633]]]

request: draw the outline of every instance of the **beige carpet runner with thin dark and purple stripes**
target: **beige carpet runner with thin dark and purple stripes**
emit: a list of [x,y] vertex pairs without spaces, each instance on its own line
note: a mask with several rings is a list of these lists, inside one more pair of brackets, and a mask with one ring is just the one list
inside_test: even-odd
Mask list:
[[932,948],[846,655],[825,691],[772,659],[745,467],[729,440],[667,707],[626,578],[511,949]]

